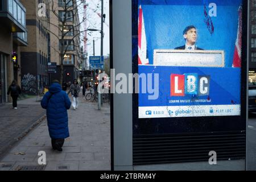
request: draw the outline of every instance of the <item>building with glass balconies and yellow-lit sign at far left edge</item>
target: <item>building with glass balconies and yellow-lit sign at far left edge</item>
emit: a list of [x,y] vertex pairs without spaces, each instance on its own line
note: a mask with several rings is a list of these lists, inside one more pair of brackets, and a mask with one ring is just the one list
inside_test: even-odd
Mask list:
[[21,84],[20,49],[27,46],[26,8],[19,0],[0,1],[0,104],[10,101],[7,89]]

